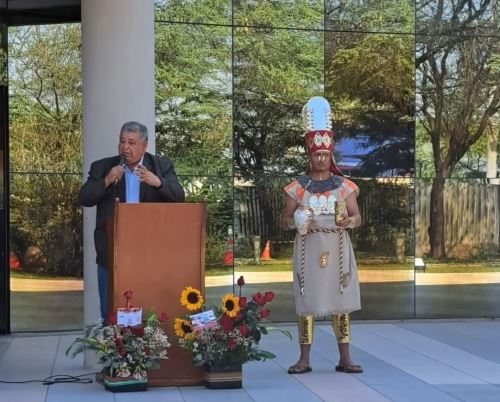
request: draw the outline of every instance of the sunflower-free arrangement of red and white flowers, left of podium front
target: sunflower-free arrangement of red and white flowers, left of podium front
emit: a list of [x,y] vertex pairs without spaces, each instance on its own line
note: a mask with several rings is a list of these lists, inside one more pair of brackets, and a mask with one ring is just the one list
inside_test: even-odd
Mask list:
[[[132,291],[124,293],[127,309],[130,309]],[[84,350],[93,350],[110,377],[146,378],[146,370],[156,369],[161,359],[167,359],[170,347],[167,335],[161,328],[164,313],[149,312],[139,325],[117,325],[116,321],[104,325],[101,320],[85,330],[67,349],[74,357]]]

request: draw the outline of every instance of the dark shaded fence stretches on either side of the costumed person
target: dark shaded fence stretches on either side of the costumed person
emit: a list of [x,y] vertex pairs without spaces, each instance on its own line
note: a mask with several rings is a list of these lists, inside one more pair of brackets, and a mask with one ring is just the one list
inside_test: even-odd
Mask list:
[[[288,180],[289,181],[289,180]],[[261,186],[235,187],[235,234],[259,235],[262,242],[290,243],[295,233],[280,227],[283,187],[288,181],[268,179]],[[351,234],[357,249],[392,255],[394,237],[405,233],[406,253],[413,255],[413,186],[408,179],[356,180],[363,225]]]

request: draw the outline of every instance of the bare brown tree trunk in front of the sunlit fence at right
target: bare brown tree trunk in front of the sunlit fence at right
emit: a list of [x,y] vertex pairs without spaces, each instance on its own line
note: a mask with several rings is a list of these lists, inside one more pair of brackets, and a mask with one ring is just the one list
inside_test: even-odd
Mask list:
[[444,183],[443,177],[436,177],[432,182],[431,216],[429,223],[429,242],[431,256],[435,259],[446,258],[444,232]]

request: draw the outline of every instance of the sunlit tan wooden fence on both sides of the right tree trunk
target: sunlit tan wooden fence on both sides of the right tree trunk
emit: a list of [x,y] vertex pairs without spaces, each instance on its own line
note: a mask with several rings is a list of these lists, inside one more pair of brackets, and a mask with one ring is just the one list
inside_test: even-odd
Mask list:
[[[415,188],[415,255],[430,251],[431,182]],[[486,183],[449,180],[444,190],[445,247],[449,257],[496,254],[500,236],[500,188]]]

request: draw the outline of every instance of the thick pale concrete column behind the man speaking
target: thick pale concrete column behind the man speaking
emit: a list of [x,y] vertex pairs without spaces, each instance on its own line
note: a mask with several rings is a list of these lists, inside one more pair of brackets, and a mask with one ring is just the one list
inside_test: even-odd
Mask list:
[[[117,154],[121,125],[146,125],[154,152],[154,0],[82,0],[83,173]],[[99,317],[93,230],[85,208],[84,324]]]

